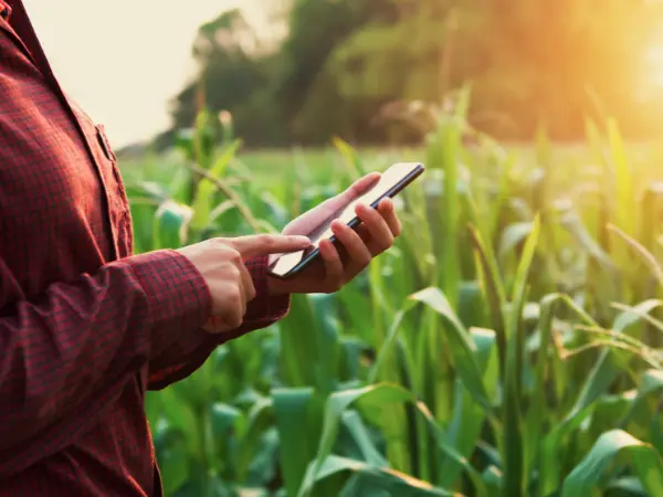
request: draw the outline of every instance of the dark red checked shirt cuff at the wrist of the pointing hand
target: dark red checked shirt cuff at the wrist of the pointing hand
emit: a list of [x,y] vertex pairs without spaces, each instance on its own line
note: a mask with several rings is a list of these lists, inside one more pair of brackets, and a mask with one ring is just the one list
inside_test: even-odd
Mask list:
[[119,261],[128,265],[147,296],[151,355],[198,330],[211,314],[212,298],[193,263],[177,251],[164,250]]

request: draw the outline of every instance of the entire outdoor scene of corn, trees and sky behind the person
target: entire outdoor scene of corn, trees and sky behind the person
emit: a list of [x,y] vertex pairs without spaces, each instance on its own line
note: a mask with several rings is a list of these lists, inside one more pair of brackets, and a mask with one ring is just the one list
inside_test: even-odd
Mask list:
[[351,285],[149,393],[168,496],[663,495],[663,2],[24,1],[136,252],[427,165]]

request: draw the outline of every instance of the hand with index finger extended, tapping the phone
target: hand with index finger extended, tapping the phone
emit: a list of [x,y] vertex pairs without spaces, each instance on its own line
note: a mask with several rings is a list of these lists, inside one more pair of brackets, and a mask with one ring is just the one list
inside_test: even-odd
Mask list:
[[306,236],[259,234],[234,239],[210,239],[178,250],[204,278],[212,295],[212,315],[203,329],[218,334],[239,327],[246,304],[255,297],[244,261],[307,248]]

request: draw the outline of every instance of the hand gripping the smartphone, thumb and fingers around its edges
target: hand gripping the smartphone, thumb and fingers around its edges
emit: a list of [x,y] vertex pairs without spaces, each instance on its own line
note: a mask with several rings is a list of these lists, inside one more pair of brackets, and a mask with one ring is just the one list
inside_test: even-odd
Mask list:
[[[316,226],[328,224],[350,202],[367,193],[380,179],[377,172],[365,176],[343,193],[323,202],[292,221],[283,230],[285,235],[309,235]],[[385,199],[372,209],[359,203],[356,213],[361,224],[357,230],[340,221],[330,223],[332,231],[340,245],[337,250],[332,242],[319,243],[319,257],[302,273],[291,279],[269,278],[270,294],[329,294],[337,292],[361,273],[371,260],[390,248],[401,233],[401,222],[393,203]]]

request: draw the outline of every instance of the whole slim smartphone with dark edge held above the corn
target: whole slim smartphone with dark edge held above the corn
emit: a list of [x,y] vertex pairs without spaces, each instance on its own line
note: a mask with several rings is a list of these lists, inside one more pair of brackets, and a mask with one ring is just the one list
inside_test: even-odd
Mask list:
[[302,269],[306,268],[312,262],[319,257],[320,240],[329,240],[336,243],[336,236],[329,228],[336,219],[345,222],[351,229],[357,229],[361,221],[355,213],[357,203],[366,203],[373,209],[377,209],[382,199],[393,198],[400,193],[408,184],[420,177],[424,171],[424,167],[419,162],[399,162],[391,166],[382,172],[380,180],[364,195],[355,199],[339,212],[339,215],[325,222],[307,236],[311,239],[311,247],[305,251],[292,252],[283,254],[275,261],[272,261],[269,267],[270,275],[288,279],[296,276]]

